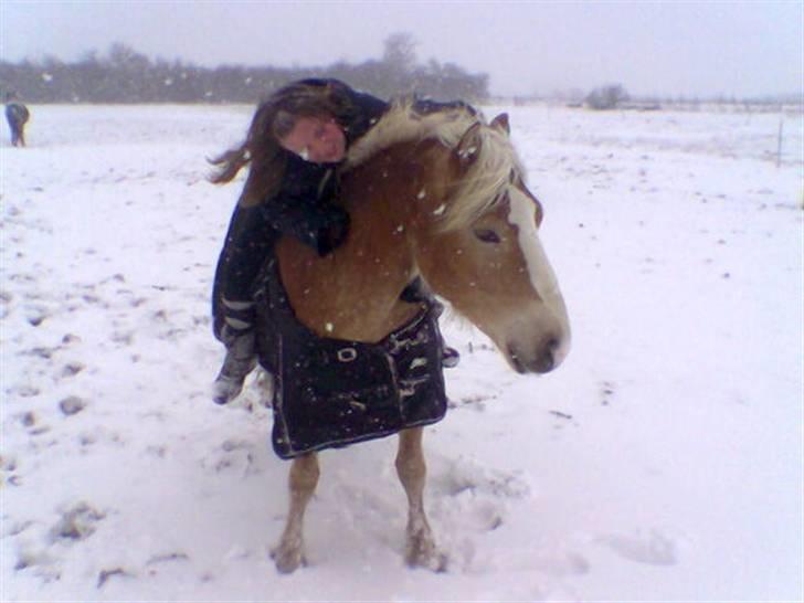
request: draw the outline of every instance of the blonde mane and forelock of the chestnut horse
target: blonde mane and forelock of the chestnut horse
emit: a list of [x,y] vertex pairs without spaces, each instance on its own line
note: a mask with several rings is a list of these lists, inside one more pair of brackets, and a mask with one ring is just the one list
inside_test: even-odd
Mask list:
[[480,125],[477,128],[477,146],[464,152],[477,154],[477,157],[453,191],[453,202],[441,216],[444,230],[459,229],[494,209],[501,200],[501,193],[511,184],[512,173],[525,180],[525,170],[508,134],[501,128],[490,127],[479,112],[457,106],[422,115],[416,113],[410,99],[394,102],[377,125],[352,145],[341,169],[349,171],[400,142],[434,138],[446,148],[455,149],[475,124]]

